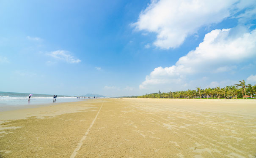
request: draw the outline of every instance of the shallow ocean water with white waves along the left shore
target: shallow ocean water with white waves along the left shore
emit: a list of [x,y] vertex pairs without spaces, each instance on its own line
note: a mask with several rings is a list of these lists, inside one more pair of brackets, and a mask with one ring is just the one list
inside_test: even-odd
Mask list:
[[[30,102],[28,102],[29,93],[14,93],[14,92],[2,92],[0,91],[0,108],[6,106],[23,106],[23,105],[31,105],[31,104],[50,104],[53,103],[53,95],[52,94],[33,94],[30,98]],[[77,102],[84,100],[77,99],[77,96],[63,96],[58,95],[55,103],[58,102]],[[88,99],[88,98],[85,98]]]

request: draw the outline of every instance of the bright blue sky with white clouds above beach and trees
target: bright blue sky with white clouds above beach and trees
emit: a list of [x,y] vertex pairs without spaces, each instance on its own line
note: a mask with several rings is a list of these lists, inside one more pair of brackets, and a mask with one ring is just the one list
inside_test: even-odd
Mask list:
[[0,91],[82,96],[256,84],[255,0],[1,0]]

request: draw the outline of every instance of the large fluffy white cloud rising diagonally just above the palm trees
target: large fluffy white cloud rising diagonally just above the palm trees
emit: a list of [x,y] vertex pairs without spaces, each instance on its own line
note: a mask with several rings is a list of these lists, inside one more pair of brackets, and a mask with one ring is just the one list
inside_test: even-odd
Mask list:
[[215,29],[207,33],[195,50],[182,56],[171,67],[157,67],[139,88],[174,83],[184,84],[187,75],[218,73],[236,68],[237,63],[256,57],[256,29]]

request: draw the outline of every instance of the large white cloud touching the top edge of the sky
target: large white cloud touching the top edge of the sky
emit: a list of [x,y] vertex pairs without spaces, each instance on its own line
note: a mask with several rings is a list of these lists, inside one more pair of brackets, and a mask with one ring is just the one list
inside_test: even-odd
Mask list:
[[[240,13],[245,8],[250,9]],[[132,25],[140,31],[157,33],[154,45],[169,49],[179,47],[200,27],[219,23],[231,16],[240,19],[253,16],[255,8],[255,0],[151,0]]]

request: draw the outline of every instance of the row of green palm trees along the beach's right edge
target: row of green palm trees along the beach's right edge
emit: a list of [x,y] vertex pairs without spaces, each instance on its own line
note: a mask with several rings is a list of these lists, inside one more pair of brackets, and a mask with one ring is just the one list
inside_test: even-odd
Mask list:
[[239,84],[226,86],[223,88],[205,88],[196,87],[194,90],[187,91],[169,91],[168,93],[152,93],[142,96],[132,96],[133,98],[176,98],[176,99],[256,99],[256,85],[246,85],[245,80],[239,81]]

